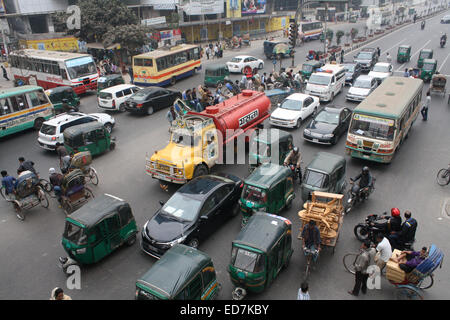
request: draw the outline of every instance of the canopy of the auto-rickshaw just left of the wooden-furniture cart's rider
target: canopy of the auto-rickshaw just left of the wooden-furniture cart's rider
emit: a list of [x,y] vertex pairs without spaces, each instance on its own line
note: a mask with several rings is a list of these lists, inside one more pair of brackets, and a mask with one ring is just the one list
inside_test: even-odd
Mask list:
[[267,253],[272,250],[290,225],[291,222],[283,217],[257,212],[239,232],[233,245],[247,246]]

